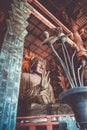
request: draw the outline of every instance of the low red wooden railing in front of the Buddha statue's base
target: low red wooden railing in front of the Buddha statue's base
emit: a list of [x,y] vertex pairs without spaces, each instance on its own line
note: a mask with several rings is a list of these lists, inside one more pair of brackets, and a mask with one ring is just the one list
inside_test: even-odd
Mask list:
[[25,128],[24,130],[26,127],[27,130],[36,130],[37,126],[46,126],[46,130],[53,130],[53,126],[59,125],[58,118],[65,116],[74,117],[73,114],[17,117],[16,130],[21,130],[22,127]]

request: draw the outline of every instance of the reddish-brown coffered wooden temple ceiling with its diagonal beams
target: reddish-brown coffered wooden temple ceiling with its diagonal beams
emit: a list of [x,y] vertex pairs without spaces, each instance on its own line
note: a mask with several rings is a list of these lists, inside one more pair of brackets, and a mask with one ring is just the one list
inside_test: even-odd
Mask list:
[[[55,56],[49,46],[42,46],[41,43],[45,39],[44,31],[48,31],[50,36],[54,34],[53,29],[62,26],[65,34],[71,32],[69,18],[71,17],[78,25],[79,32],[84,29],[82,39],[87,46],[87,2],[86,0],[28,0],[31,15],[28,18],[29,25],[27,27],[28,35],[25,38],[24,47],[31,50],[50,61]],[[0,1],[0,19],[9,17],[12,0]],[[2,32],[5,32],[5,20],[0,20]],[[2,35],[3,37],[3,35]],[[3,39],[3,38],[1,38]],[[61,53],[60,45],[56,49]]]

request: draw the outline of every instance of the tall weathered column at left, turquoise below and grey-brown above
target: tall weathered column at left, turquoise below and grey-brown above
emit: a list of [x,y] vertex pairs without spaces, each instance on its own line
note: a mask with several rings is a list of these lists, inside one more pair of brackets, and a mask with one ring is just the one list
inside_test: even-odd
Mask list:
[[24,38],[29,9],[14,0],[0,53],[0,130],[15,130]]

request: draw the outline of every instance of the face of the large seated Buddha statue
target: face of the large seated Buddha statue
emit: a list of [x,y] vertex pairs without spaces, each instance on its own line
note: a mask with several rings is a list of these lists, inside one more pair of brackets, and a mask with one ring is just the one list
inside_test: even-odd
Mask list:
[[39,74],[42,74],[42,73],[44,73],[45,70],[46,70],[46,64],[42,61],[38,61],[36,71]]

